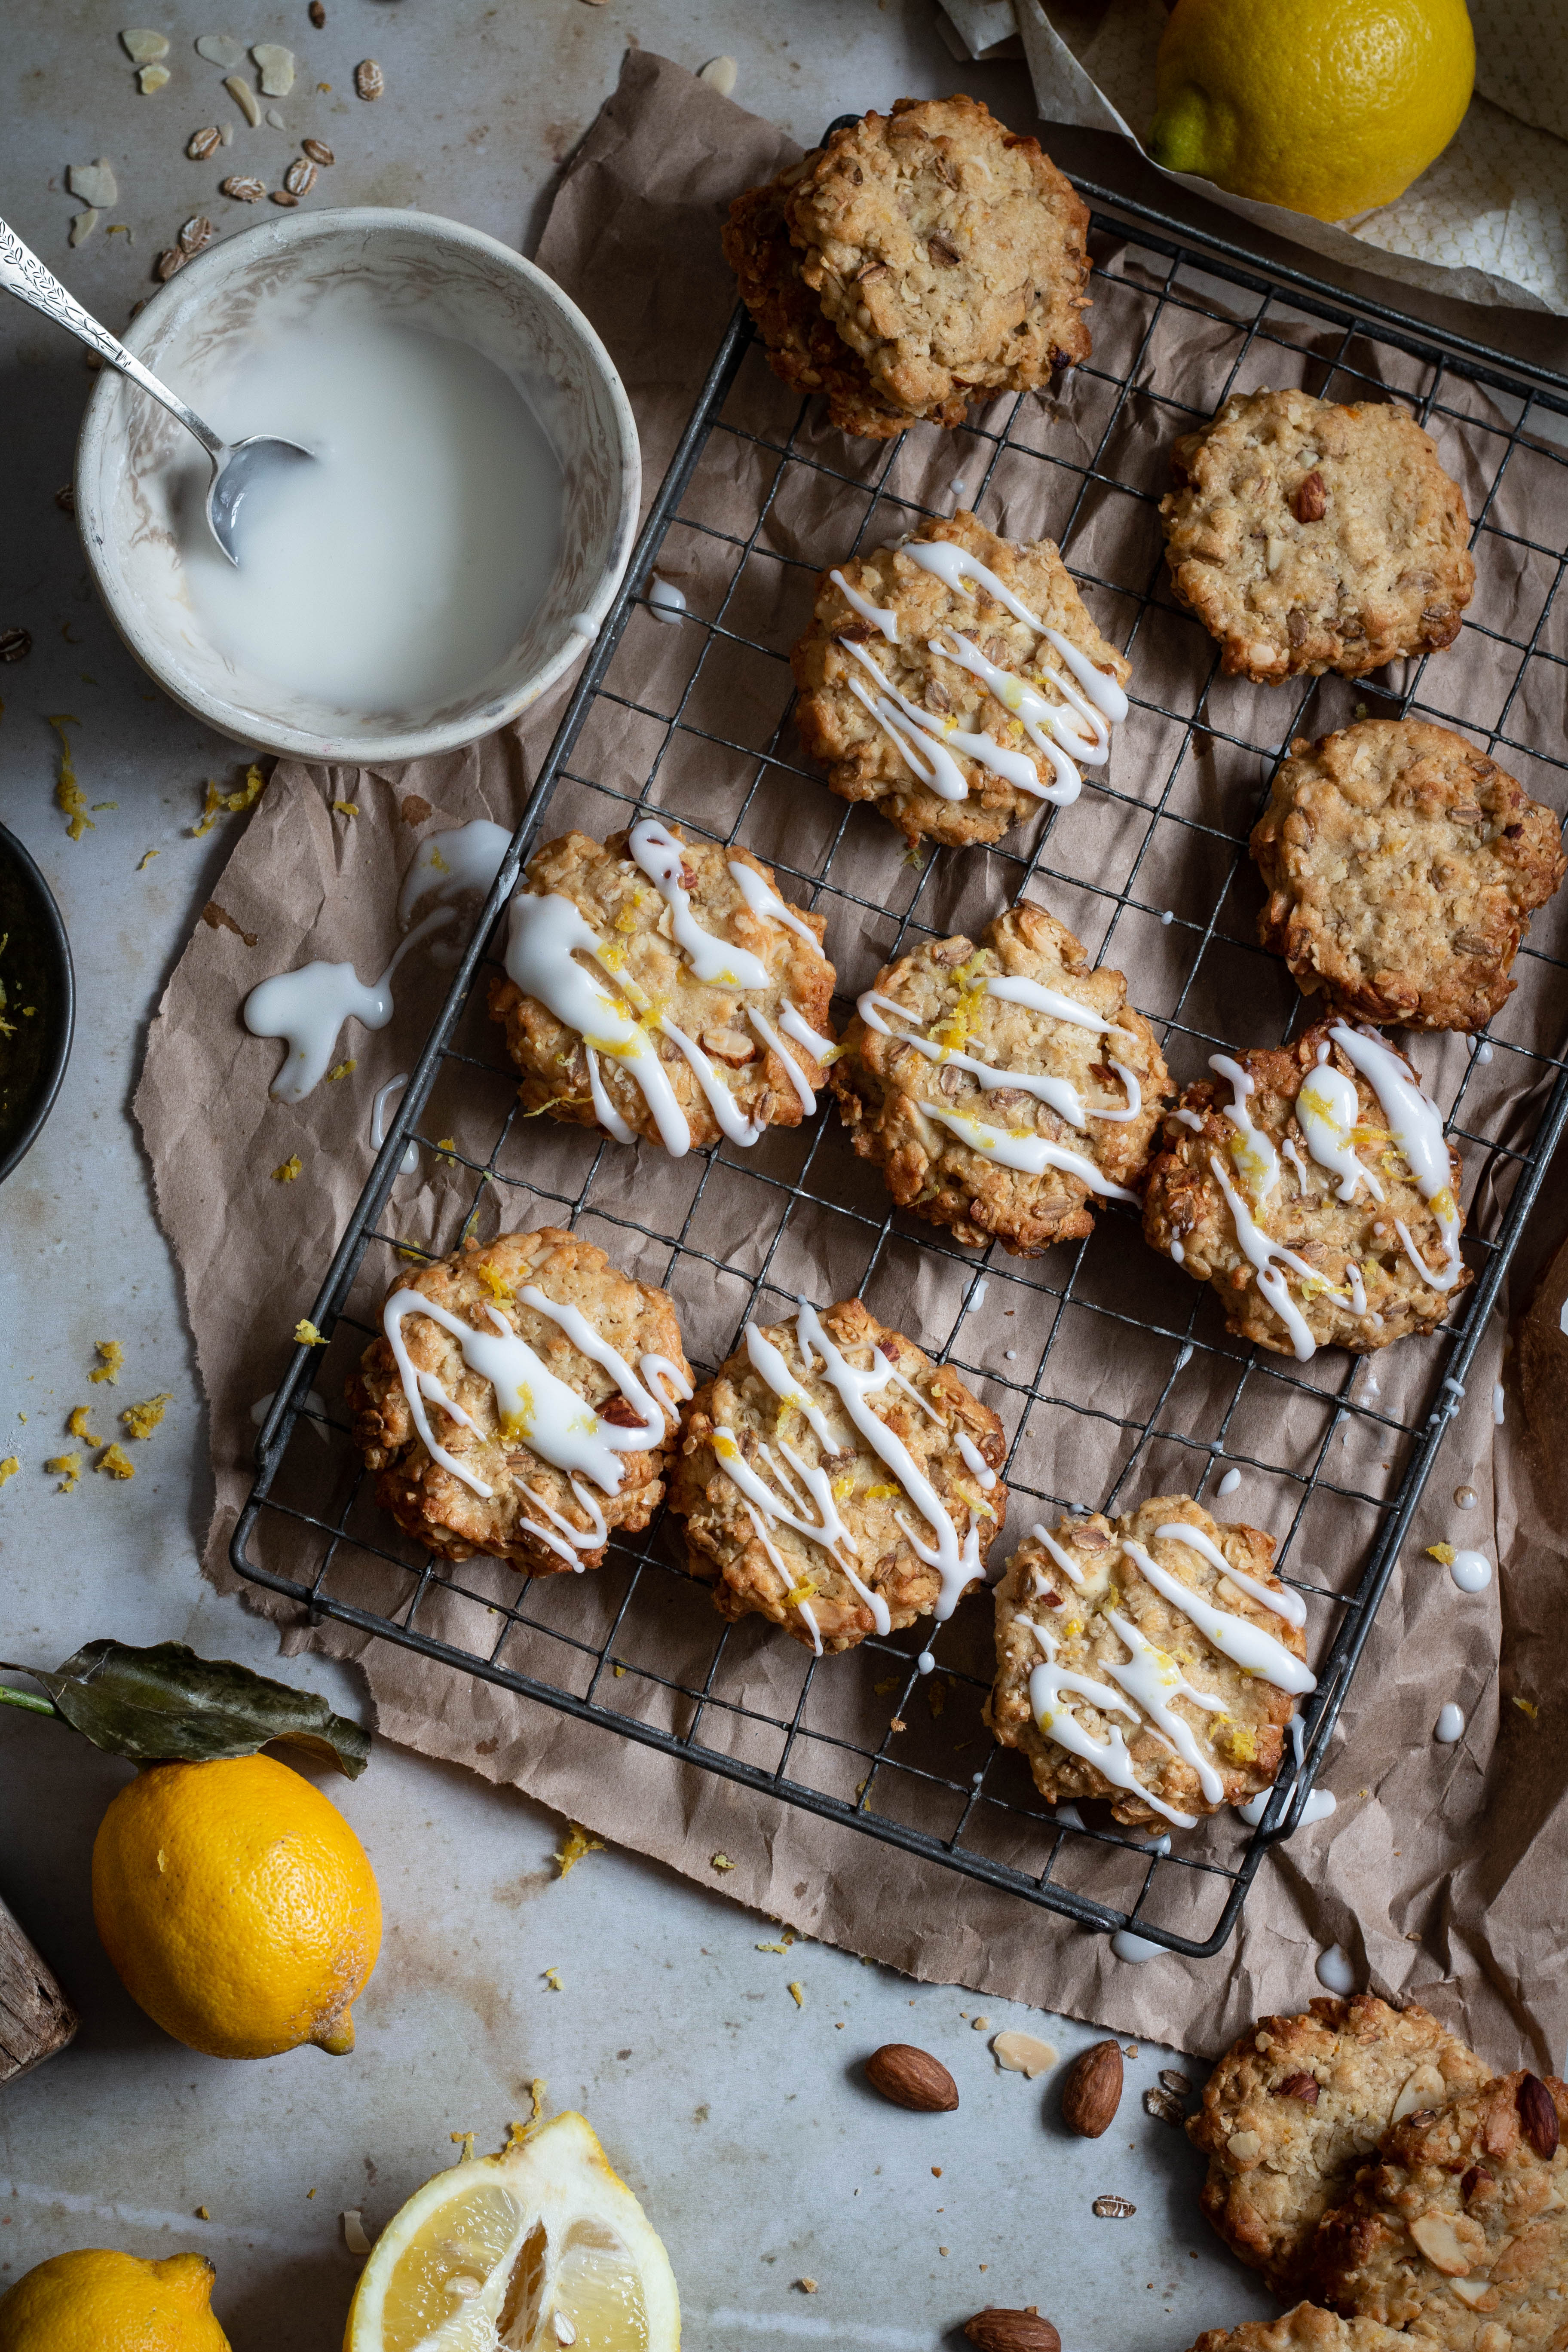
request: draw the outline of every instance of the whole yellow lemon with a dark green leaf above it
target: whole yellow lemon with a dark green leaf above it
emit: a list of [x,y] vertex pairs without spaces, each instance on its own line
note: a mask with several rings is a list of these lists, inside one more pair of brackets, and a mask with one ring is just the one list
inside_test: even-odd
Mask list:
[[92,1915],[125,1990],[188,2049],[353,2049],[381,1896],[339,1809],[287,1764],[139,1773],[99,1823]]

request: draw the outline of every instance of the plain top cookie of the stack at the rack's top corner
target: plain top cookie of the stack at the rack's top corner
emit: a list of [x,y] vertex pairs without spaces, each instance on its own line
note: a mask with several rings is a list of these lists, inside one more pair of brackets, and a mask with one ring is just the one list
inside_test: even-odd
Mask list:
[[835,132],[783,209],[891,409],[1030,390],[1088,358],[1088,207],[978,99],[898,99]]

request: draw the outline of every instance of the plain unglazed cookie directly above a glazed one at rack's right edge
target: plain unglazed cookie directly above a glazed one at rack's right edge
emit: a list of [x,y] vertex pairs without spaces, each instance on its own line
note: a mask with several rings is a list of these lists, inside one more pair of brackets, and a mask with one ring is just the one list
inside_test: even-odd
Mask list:
[[1298,985],[1406,1028],[1476,1030],[1563,880],[1559,818],[1427,720],[1361,720],[1291,746],[1253,828],[1265,948]]

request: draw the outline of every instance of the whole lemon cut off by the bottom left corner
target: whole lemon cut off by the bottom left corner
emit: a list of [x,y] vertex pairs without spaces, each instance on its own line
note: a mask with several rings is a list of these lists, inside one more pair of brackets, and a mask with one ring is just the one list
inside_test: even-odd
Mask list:
[[214,2277],[200,2253],[54,2253],[0,2296],[0,2352],[228,2352]]

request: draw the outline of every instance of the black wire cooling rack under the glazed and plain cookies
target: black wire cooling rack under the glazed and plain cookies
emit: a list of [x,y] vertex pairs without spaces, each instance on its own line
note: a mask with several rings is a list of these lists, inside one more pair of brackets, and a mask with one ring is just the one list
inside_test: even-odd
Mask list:
[[[1060,858],[1067,811],[1048,811],[1027,847],[1016,847],[1013,835],[990,851],[990,910],[1034,887],[1060,913],[1067,894],[1077,910],[1067,920],[1095,962],[1128,960],[1126,950],[1138,941],[1147,946],[1157,924],[1159,1002],[1140,997],[1140,1009],[1182,1080],[1201,1070],[1208,1051],[1274,1042],[1300,1023],[1295,990],[1253,943],[1246,835],[1284,743],[1342,722],[1349,701],[1333,680],[1251,694],[1220,680],[1218,652],[1161,593],[1152,524],[1161,482],[1147,468],[1147,480],[1138,480],[1140,442],[1164,454],[1168,440],[1208,416],[1232,386],[1276,381],[1281,367],[1293,367],[1293,381],[1307,390],[1331,397],[1375,397],[1387,388],[1406,397],[1429,430],[1462,447],[1474,477],[1469,503],[1481,588],[1460,647],[1441,661],[1462,666],[1467,640],[1481,644],[1493,696],[1486,724],[1472,724],[1434,699],[1427,666],[1413,668],[1399,694],[1366,682],[1352,691],[1380,715],[1418,713],[1467,724],[1537,797],[1568,804],[1568,760],[1533,741],[1544,731],[1537,717],[1542,680],[1554,708],[1568,682],[1568,633],[1554,635],[1566,557],[1561,546],[1505,522],[1519,503],[1509,482],[1526,468],[1544,468],[1542,496],[1530,489],[1523,501],[1528,515],[1549,513],[1547,489],[1568,485],[1561,449],[1568,381],[1521,369],[1481,346],[1439,343],[1394,310],[1349,306],[1331,287],[1269,270],[1105,191],[1084,193],[1114,214],[1093,214],[1095,358],[1070,379],[1074,435],[1056,426],[1041,433],[1051,412],[1025,397],[983,412],[980,423],[945,447],[959,452],[952,470],[966,475],[961,503],[973,508],[987,492],[1006,503],[1025,475],[1048,477],[1051,536],[1100,626],[1133,656],[1133,717],[1124,741],[1154,743],[1154,760],[1140,783],[1110,793],[1124,818],[1114,870],[1074,873]],[[1175,381],[1161,358],[1168,348],[1180,353]],[[856,924],[875,962],[950,929],[943,924],[943,877],[952,875],[954,858],[980,851],[938,851],[917,870],[900,858],[882,818],[830,800],[790,734],[788,649],[804,621],[811,579],[823,564],[938,510],[929,503],[929,480],[912,487],[900,470],[910,442],[905,435],[863,456],[865,445],[820,433],[811,402],[783,395],[766,376],[750,322],[736,315],[310,1308],[336,1352],[329,1350],[324,1374],[313,1350],[296,1350],[261,1430],[259,1475],[233,1538],[233,1564],[254,1583],[306,1604],[315,1618],[407,1644],[590,1722],[607,1738],[630,1738],[672,1764],[724,1773],[1086,1926],[1135,1929],[1152,1943],[1206,1957],[1232,1933],[1265,1851],[1300,1823],[1509,1254],[1568,1120],[1561,1054],[1568,962],[1540,938],[1526,943],[1521,988],[1493,1033],[1450,1040],[1441,1084],[1429,1077],[1467,1160],[1467,1254],[1476,1282],[1450,1327],[1427,1341],[1406,1338],[1394,1350],[1403,1367],[1399,1404],[1380,1399],[1371,1371],[1380,1357],[1333,1350],[1298,1367],[1227,1338],[1208,1291],[1147,1254],[1121,1211],[1103,1216],[1088,1242],[1032,1263],[994,1249],[957,1249],[943,1232],[886,1214],[879,1185],[867,1190],[844,1150],[835,1112],[795,1134],[776,1131],[748,1155],[745,1169],[731,1145],[691,1155],[679,1164],[689,1181],[675,1211],[651,1185],[630,1197],[618,1145],[574,1129],[543,1136],[520,1124],[494,1033],[482,1018],[480,983],[522,858],[562,821],[609,833],[628,823],[635,807],[658,804],[698,835],[757,847],[771,811],[773,844],[762,854],[790,896],[827,913],[835,960],[839,936]],[[705,510],[703,482],[715,461],[717,473],[750,485],[752,515],[741,529],[733,515],[715,520]],[[773,532],[802,477],[832,485],[853,529],[839,527],[832,543],[818,534],[816,546],[795,543],[790,529]],[[658,694],[639,689],[637,661],[621,656],[628,628],[646,630],[656,619],[651,567],[661,555],[668,562],[675,536],[689,555],[696,550],[708,593],[679,616],[691,647],[684,680]],[[1500,600],[1505,626],[1495,626],[1497,600],[1486,595],[1488,567],[1500,567],[1512,583]],[[759,628],[748,619],[759,572],[776,588],[785,583],[785,604],[799,590],[792,626]],[[778,597],[769,609],[776,604]],[[1563,619],[1568,597],[1559,628]],[[1187,628],[1187,684],[1180,696],[1140,701],[1140,640],[1173,626]],[[658,635],[654,630],[654,640]],[[729,675],[736,663],[745,663],[743,691]],[[771,684],[759,689],[759,677]],[[736,708],[743,701],[752,715],[764,710],[762,724],[750,731],[719,724],[731,687]],[[1561,746],[1561,727],[1549,729],[1549,741]],[[724,779],[724,790],[710,786],[696,809],[675,781],[691,753]],[[1194,776],[1208,779],[1197,795]],[[569,816],[562,818],[562,809]],[[778,854],[780,809],[802,830],[809,854]],[[595,826],[592,814],[602,823]],[[875,854],[867,863],[867,842],[877,844],[879,863]],[[1182,870],[1197,875],[1185,896],[1171,880]],[[1234,1035],[1234,1021],[1227,1035],[1213,1016],[1215,964],[1222,967],[1220,995],[1234,1004],[1241,988],[1248,1004],[1244,1037]],[[849,995],[867,978],[870,971],[856,978]],[[1251,1035],[1260,1021],[1265,1028],[1272,1021],[1272,1037]],[[442,1120],[423,1117],[428,1101],[473,1110],[461,1141],[458,1134],[433,1141],[428,1129]],[[475,1108],[480,1101],[494,1117]],[[480,1141],[475,1127],[484,1129]],[[938,1672],[922,1679],[919,1628],[816,1663],[757,1621],[726,1625],[705,1588],[679,1566],[677,1545],[658,1522],[644,1538],[614,1541],[592,1578],[524,1581],[494,1562],[451,1566],[404,1545],[374,1508],[371,1482],[343,1421],[313,1406],[308,1388],[310,1381],[331,1388],[331,1374],[357,1357],[374,1329],[374,1301],[390,1279],[393,1254],[418,1254],[400,1230],[393,1200],[409,1141],[444,1150],[451,1171],[463,1169],[470,1178],[454,1190],[454,1230],[423,1237],[428,1254],[456,1247],[458,1232],[480,1216],[498,1228],[581,1225],[611,1256],[635,1263],[644,1279],[663,1282],[684,1322],[703,1301],[717,1336],[703,1355],[689,1331],[698,1378],[729,1352],[748,1315],[766,1319],[788,1310],[790,1294],[813,1291],[827,1263],[835,1289],[825,1296],[816,1289],[818,1305],[846,1289],[872,1294],[875,1303],[877,1282],[893,1263],[905,1272],[919,1265],[936,1303],[912,1336],[1004,1414],[1013,1538],[1037,1512],[1058,1505],[1093,1503],[1114,1512],[1124,1496],[1159,1491],[1159,1484],[1213,1501],[1227,1468],[1267,1475],[1279,1566],[1309,1604],[1319,1689],[1302,1710],[1298,1752],[1286,1759],[1262,1820],[1244,1835],[1229,1816],[1215,1816],[1175,1851],[1161,1851],[1168,1839],[1150,1844],[1119,1830],[1100,1806],[1058,1813],[1044,1806],[1020,1759],[997,1750],[980,1726],[990,1682],[987,1597],[966,1602],[940,1628]],[[644,1171],[635,1181],[644,1185]],[[816,1270],[802,1258],[804,1232],[816,1235]],[[842,1279],[842,1268],[856,1279]],[[1013,1305],[999,1305],[1004,1298]],[[997,1348],[997,1336],[1009,1336],[1009,1317],[1018,1322],[1013,1336],[1032,1334],[1027,1350]],[[315,1444],[301,1454],[306,1423],[327,1437],[324,1456]],[[1084,1444],[1091,1454],[1100,1449],[1098,1494],[1053,1491],[1053,1432],[1065,1428],[1079,1439],[1079,1461]],[[1293,1432],[1288,1444],[1286,1430]],[[1309,1559],[1328,1531],[1338,1531],[1345,1550],[1347,1526],[1354,1566],[1335,1588],[1314,1576]],[[771,1649],[759,1646],[764,1642]]]

